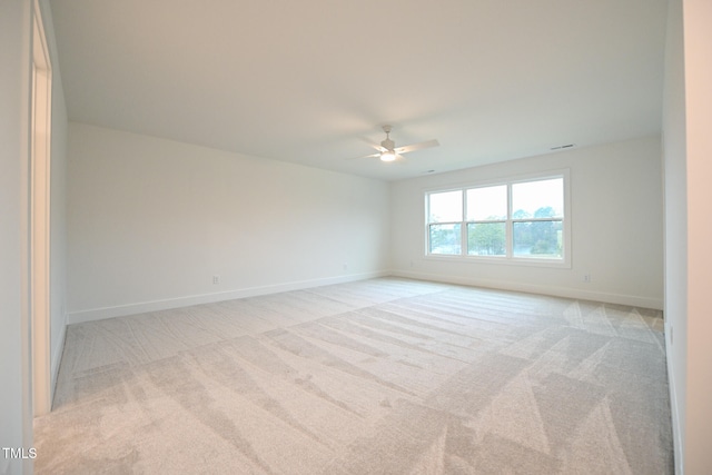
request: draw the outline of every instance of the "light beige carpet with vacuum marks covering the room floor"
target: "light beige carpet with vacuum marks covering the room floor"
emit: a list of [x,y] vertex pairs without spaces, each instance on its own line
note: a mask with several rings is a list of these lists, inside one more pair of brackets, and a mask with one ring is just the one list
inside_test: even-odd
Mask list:
[[662,328],[395,278],[72,325],[36,472],[673,473]]

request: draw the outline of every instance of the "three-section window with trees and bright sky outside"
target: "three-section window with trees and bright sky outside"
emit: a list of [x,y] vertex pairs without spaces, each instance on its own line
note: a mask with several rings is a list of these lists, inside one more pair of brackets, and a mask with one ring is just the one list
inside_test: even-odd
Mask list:
[[427,192],[427,254],[565,264],[565,175]]

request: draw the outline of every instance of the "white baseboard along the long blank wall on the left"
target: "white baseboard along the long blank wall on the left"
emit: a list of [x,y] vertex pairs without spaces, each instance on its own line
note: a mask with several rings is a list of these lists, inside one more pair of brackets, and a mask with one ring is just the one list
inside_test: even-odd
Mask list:
[[277,294],[280,291],[300,290],[304,288],[343,284],[355,280],[365,280],[376,277],[385,277],[388,275],[389,273],[385,270],[364,274],[350,274],[347,276],[298,280],[260,287],[246,287],[214,294],[201,294],[186,297],[167,298],[161,300],[126,304],[115,307],[91,308],[87,310],[70,311],[67,315],[67,324],[72,325],[85,321],[102,320],[106,318],[123,317],[127,315],[145,314],[147,311],[168,310],[171,308],[189,307],[191,305],[211,304],[215,301],[233,300],[236,298],[256,297],[259,295]]

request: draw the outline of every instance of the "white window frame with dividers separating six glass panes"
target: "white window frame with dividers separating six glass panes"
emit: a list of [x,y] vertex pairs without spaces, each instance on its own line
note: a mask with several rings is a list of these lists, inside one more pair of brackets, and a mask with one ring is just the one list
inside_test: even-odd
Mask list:
[[[447,260],[447,261],[465,261],[465,263],[486,263],[486,264],[502,264],[502,265],[517,265],[517,266],[537,266],[537,267],[563,267],[571,268],[572,256],[572,243],[571,243],[571,194],[570,194],[570,169],[556,169],[537,174],[518,175],[515,177],[505,177],[498,179],[479,180],[474,182],[459,184],[451,187],[438,187],[424,189],[424,248],[425,258],[434,260]],[[527,218],[513,218],[513,196],[512,189],[514,185],[544,181],[547,179],[563,179],[563,212],[562,217],[527,217]],[[506,186],[506,208],[507,216],[505,219],[467,219],[467,190],[475,188],[487,188],[495,186]],[[462,192],[462,220],[448,221],[448,222],[431,222],[429,220],[429,196],[433,194],[447,192],[447,191],[461,191]],[[561,222],[562,227],[562,257],[532,257],[514,254],[514,225],[516,222],[542,222],[542,221],[555,221]],[[505,224],[505,253],[504,255],[476,255],[468,254],[468,226],[474,224]],[[431,253],[431,226],[432,225],[461,225],[461,251],[459,254],[434,254]]]

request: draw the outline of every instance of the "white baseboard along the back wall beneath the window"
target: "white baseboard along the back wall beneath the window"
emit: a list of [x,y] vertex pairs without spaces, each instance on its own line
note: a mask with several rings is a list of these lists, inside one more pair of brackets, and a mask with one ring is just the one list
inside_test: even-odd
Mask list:
[[508,280],[492,280],[477,277],[444,276],[439,274],[416,273],[411,270],[392,270],[392,276],[405,277],[418,280],[433,280],[445,284],[468,285],[475,287],[494,288],[500,290],[525,291],[528,294],[551,295],[554,297],[575,298],[580,300],[603,301],[606,304],[630,305],[639,308],[653,308],[662,310],[662,298],[639,297],[634,295],[620,295],[605,291],[582,290],[570,287],[556,287],[531,283],[515,283]]

